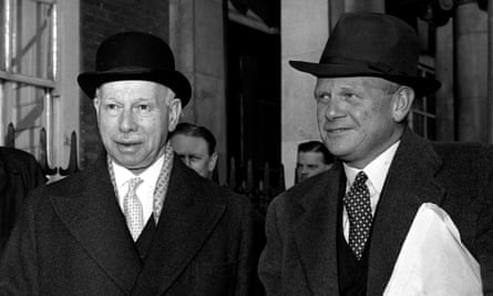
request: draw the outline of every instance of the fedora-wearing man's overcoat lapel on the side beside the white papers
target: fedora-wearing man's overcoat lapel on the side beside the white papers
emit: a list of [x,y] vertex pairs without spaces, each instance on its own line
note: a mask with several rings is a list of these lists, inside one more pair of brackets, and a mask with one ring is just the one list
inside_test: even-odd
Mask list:
[[390,166],[373,221],[369,295],[382,295],[421,204],[441,204],[444,190],[434,181],[440,166],[441,159],[431,144],[405,131]]

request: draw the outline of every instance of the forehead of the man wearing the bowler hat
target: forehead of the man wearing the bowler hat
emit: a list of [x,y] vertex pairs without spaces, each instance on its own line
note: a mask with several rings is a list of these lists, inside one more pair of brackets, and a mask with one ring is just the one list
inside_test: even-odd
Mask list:
[[165,96],[172,90],[161,83],[145,80],[121,80],[101,84],[100,92],[103,98],[138,95],[142,98]]

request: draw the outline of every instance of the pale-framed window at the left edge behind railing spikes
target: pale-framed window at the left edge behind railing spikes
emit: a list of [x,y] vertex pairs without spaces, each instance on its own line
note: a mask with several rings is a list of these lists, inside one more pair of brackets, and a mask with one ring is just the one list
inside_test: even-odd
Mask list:
[[52,146],[57,1],[4,0],[1,9],[0,144],[6,144],[7,126],[12,123],[16,147],[38,156],[42,127]]

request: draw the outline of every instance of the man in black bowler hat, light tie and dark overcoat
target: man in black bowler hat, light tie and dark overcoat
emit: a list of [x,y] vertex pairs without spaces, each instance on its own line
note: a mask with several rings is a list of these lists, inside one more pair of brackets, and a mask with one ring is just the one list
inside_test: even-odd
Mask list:
[[105,151],[29,196],[1,261],[0,295],[253,295],[261,221],[174,155],[168,132],[191,85],[168,45],[112,35],[78,81]]

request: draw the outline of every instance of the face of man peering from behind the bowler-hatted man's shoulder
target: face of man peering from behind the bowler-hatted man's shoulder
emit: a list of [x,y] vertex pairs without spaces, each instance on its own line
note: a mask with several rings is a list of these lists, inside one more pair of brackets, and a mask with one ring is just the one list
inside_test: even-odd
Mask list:
[[210,178],[216,166],[217,153],[209,154],[207,142],[198,136],[175,134],[171,139],[173,150],[186,164],[201,176]]

